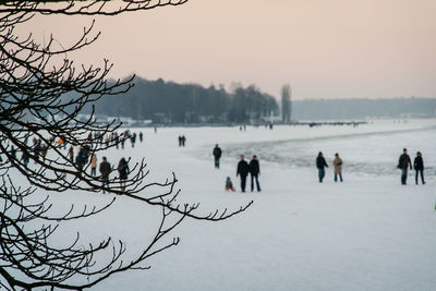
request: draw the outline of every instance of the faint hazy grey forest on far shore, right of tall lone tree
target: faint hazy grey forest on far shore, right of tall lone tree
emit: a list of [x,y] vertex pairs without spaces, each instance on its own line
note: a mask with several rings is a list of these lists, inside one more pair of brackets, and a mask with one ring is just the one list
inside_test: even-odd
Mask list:
[[292,102],[292,120],[434,117],[436,98],[311,99]]

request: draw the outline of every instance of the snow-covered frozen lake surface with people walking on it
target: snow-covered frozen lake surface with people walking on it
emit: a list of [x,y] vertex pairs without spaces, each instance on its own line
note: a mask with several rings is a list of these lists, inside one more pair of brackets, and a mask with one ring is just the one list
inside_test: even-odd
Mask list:
[[[147,263],[152,269],[116,275],[94,290],[436,290],[435,120],[132,132],[140,130],[145,142],[108,150],[111,163],[145,157],[150,182],[173,171],[180,201],[199,202],[199,214],[254,204],[221,222],[185,219],[172,233],[181,243],[154,256]],[[178,146],[180,134],[186,136],[185,147]],[[215,144],[223,151],[219,170],[211,156]],[[408,185],[400,184],[396,166],[403,147],[412,161],[417,150],[423,153],[425,185],[415,185],[414,171]],[[340,154],[343,183],[334,182],[331,166],[318,183],[319,150],[329,165]],[[250,192],[250,182],[249,192],[240,192],[240,154],[247,160],[258,156],[262,192]],[[238,192],[225,192],[228,175]],[[81,192],[51,195],[65,209],[71,202],[100,205],[111,198]],[[123,239],[134,254],[154,234],[156,210],[121,197],[90,222],[65,227],[60,240],[72,240],[82,228],[85,238]]]

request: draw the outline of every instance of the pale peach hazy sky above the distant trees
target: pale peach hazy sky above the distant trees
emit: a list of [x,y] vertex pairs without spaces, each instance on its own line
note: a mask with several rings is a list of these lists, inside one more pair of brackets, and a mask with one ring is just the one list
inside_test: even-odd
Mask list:
[[[190,0],[98,17],[102,35],[78,54],[132,73],[204,86],[256,84],[293,99],[436,97],[435,0]],[[92,17],[44,17],[32,31],[63,44]],[[96,31],[97,31],[96,29]]]

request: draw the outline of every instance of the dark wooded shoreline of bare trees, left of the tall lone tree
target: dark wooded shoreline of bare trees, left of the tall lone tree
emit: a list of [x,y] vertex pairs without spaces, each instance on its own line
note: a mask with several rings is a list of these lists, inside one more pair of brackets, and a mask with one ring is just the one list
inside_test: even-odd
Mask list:
[[278,114],[276,99],[254,85],[228,93],[222,86],[205,88],[143,78],[128,93],[104,96],[96,104],[97,114],[153,120],[156,123],[244,123]]

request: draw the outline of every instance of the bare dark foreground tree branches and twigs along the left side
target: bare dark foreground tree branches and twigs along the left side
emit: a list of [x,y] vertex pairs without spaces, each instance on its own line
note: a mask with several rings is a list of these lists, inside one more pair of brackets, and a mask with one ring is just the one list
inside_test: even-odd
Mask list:
[[[180,191],[175,190],[174,174],[162,183],[145,182],[148,170],[144,159],[131,169],[125,186],[112,179],[109,186],[104,187],[99,177],[87,173],[88,165],[84,169],[78,167],[53,138],[61,138],[66,145],[87,146],[89,155],[114,146],[101,143],[101,136],[113,133],[120,124],[97,124],[94,107],[87,120],[81,120],[78,114],[85,106],[105,95],[129,90],[133,77],[108,83],[106,76],[111,64],[107,60],[97,68],[76,66],[65,57],[96,41],[99,34],[93,34],[94,22],[73,45],[62,49],[56,48],[52,36],[46,45],[40,45],[32,35],[22,38],[15,34],[16,27],[36,13],[117,15],[185,1],[0,1],[0,287],[9,290],[89,288],[113,274],[148,268],[144,266],[147,258],[178,244],[178,238],[164,245],[158,242],[184,218],[219,221],[251,205],[230,213],[225,209],[196,215],[198,204],[175,202]],[[59,60],[61,63],[57,65]],[[49,154],[41,155],[35,141]],[[28,186],[19,186],[23,184],[20,175],[27,180]],[[158,186],[164,193],[143,195],[150,186]],[[48,198],[31,199],[38,189],[92,193],[105,190],[114,195],[108,195],[109,201],[102,207],[77,210],[72,206],[66,214],[56,217],[50,214],[53,206]],[[125,244],[112,242],[111,238],[84,247],[77,233],[64,247],[51,245],[50,240],[56,237],[60,223],[100,214],[119,196],[161,209],[156,234],[142,246],[136,258],[124,262]],[[101,263],[96,258],[101,252],[109,258],[97,264]]]

